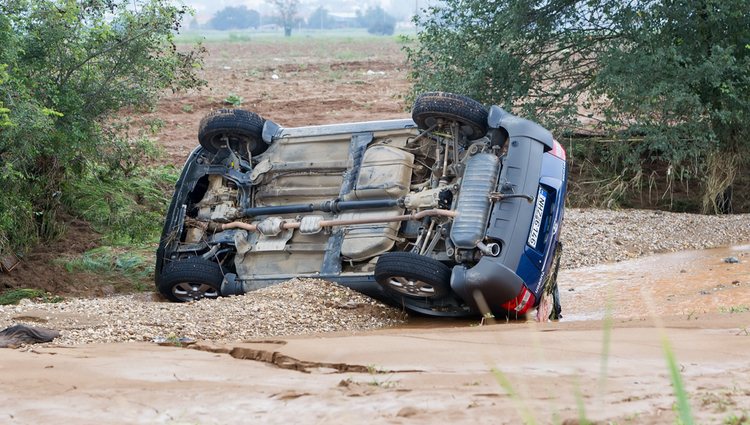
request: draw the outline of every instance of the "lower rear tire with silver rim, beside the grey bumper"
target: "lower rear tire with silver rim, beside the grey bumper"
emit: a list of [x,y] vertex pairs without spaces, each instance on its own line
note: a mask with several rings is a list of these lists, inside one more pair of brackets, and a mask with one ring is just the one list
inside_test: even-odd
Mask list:
[[450,292],[451,269],[411,252],[388,252],[375,265],[375,280],[390,295],[439,299]]

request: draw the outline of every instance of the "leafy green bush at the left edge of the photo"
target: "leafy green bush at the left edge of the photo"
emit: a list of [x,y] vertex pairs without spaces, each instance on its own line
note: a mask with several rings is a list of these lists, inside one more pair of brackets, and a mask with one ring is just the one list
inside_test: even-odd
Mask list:
[[117,111],[202,84],[201,49],[173,43],[187,11],[168,0],[0,2],[0,236],[13,249],[60,234],[69,190],[141,165],[144,146],[109,124]]

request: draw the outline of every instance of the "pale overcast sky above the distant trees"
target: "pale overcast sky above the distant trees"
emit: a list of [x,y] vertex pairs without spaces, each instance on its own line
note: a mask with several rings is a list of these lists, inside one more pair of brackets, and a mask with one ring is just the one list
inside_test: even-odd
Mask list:
[[[217,10],[227,6],[245,5],[261,13],[270,13],[273,7],[264,0],[183,0],[193,7],[199,20],[209,19]],[[354,13],[357,9],[367,9],[369,6],[381,6],[391,15],[399,19],[409,19],[415,8],[423,8],[428,0],[301,0],[300,15],[307,16],[318,6],[323,6],[332,13]]]

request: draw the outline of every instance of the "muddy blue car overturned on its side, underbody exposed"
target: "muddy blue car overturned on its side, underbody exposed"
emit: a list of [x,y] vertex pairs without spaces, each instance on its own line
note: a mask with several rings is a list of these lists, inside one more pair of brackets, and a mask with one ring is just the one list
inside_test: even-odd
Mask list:
[[560,316],[565,151],[538,124],[433,92],[412,119],[218,110],[198,138],[157,251],[172,301],[315,277],[434,316]]

